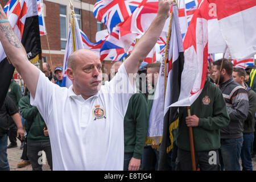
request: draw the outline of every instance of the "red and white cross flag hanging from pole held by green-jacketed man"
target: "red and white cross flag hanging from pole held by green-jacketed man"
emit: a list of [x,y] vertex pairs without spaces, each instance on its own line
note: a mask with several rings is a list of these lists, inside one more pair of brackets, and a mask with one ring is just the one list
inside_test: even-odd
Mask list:
[[171,106],[191,106],[204,88],[208,61],[208,12],[208,1],[201,2],[189,24],[183,43],[180,96]]

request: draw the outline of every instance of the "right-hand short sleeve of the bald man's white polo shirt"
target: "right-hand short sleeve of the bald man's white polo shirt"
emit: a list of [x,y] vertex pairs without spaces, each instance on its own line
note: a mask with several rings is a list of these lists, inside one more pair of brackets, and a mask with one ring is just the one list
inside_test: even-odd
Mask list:
[[114,106],[124,117],[131,96],[137,92],[135,81],[131,85],[124,64],[118,69],[113,79],[106,82],[104,92],[110,94],[110,97],[114,101]]

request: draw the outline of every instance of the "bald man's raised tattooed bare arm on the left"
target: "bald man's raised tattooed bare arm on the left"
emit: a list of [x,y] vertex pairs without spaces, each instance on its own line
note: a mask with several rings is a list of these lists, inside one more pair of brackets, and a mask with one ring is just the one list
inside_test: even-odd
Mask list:
[[[7,19],[0,5],[0,20]],[[9,22],[0,23],[0,41],[11,64],[17,69],[26,82],[30,94],[35,98],[36,85],[39,78],[39,69],[27,59],[27,53],[13,31]]]

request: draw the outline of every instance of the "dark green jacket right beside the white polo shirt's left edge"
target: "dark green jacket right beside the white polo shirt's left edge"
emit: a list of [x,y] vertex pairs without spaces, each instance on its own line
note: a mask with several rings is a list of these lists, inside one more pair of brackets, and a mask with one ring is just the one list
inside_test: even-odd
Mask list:
[[28,92],[27,96],[24,96],[19,101],[20,114],[24,119],[26,119],[25,127],[28,130],[27,141],[28,142],[48,142],[49,137],[44,136],[44,119],[39,113],[38,109],[35,106],[30,105],[30,93]]

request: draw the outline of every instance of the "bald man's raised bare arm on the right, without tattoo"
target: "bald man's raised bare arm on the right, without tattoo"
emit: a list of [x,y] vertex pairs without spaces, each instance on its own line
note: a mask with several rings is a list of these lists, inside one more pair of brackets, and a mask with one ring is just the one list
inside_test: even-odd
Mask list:
[[172,0],[159,0],[158,14],[152,21],[147,32],[139,39],[138,43],[136,43],[131,55],[125,60],[124,64],[127,74],[137,73],[142,61],[155,46],[166,19],[170,16],[172,2]]

